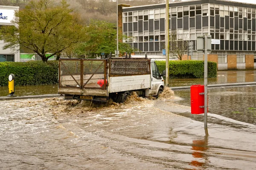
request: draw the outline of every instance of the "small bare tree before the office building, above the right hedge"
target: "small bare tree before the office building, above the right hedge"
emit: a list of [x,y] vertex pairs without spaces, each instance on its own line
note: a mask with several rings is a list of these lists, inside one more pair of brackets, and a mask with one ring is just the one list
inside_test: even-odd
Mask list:
[[186,32],[180,32],[178,34],[172,32],[172,34],[169,35],[169,42],[170,53],[182,60],[182,56],[186,54],[188,50],[189,34]]

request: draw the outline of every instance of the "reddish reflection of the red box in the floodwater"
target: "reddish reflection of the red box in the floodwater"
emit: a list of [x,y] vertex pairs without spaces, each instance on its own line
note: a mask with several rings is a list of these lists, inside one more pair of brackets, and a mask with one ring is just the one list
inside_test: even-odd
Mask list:
[[192,156],[195,159],[191,161],[191,165],[194,167],[205,167],[209,161],[205,153],[208,150],[208,129],[205,128],[204,130],[204,139],[193,140]]

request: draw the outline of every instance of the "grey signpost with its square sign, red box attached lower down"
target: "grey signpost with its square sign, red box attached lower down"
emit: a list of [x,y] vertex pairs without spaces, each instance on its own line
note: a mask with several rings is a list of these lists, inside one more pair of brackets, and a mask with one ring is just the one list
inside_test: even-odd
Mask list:
[[207,128],[207,111],[208,111],[208,97],[207,97],[207,53],[212,49],[212,40],[210,35],[202,35],[197,37],[197,50],[204,51],[204,128]]

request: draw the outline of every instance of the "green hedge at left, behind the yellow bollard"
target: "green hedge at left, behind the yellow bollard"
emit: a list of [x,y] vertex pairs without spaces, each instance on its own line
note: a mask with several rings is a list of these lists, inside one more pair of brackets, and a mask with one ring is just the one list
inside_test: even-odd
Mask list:
[[15,75],[15,85],[58,83],[58,61],[0,62],[0,86],[8,85],[9,74]]

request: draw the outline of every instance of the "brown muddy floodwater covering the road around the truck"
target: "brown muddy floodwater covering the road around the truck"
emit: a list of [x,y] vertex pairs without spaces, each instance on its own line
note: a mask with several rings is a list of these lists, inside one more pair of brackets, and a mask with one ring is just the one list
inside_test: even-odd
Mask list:
[[[217,99],[223,92],[214,93],[209,96]],[[205,131],[203,115],[188,116],[186,97],[163,94],[155,100],[134,94],[107,106],[60,98],[0,101],[0,169],[256,169],[255,124],[215,114],[216,106]]]

